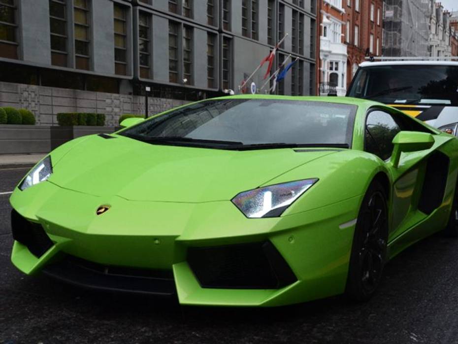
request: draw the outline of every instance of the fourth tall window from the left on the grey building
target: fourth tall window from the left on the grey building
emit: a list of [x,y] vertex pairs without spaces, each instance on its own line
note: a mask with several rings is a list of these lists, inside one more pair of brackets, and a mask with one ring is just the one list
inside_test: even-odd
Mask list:
[[115,73],[127,74],[127,10],[114,3]]

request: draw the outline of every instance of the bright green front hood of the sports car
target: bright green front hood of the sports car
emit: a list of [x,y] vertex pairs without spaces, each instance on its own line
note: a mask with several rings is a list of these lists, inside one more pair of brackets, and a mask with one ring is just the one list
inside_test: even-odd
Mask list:
[[[59,149],[59,148],[58,148]],[[49,181],[96,196],[132,201],[199,203],[232,199],[242,191],[335,150],[222,149],[154,145],[131,138],[92,136],[56,151]],[[304,178],[317,177],[304,175]]]

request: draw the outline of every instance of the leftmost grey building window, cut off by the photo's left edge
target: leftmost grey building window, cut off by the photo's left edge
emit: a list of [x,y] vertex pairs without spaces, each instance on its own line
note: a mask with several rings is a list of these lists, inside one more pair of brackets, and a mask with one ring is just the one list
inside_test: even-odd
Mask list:
[[16,34],[16,6],[14,0],[0,0],[0,56],[18,58]]

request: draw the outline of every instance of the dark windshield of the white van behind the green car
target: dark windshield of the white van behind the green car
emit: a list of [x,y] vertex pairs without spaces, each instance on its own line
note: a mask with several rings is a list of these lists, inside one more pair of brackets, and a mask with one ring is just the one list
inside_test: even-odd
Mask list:
[[458,65],[360,68],[347,96],[387,104],[458,106]]

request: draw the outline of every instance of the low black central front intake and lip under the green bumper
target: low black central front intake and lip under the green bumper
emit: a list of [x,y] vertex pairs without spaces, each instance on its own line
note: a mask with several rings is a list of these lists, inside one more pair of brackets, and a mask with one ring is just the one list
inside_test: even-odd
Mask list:
[[43,268],[45,275],[88,289],[171,296],[176,292],[169,270],[115,267],[71,255]]

